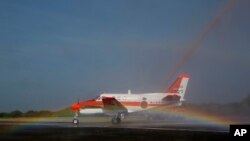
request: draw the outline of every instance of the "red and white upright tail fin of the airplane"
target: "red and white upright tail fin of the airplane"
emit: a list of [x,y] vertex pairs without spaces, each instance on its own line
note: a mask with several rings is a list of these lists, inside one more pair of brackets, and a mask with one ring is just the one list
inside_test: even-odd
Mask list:
[[179,101],[185,101],[184,96],[189,78],[189,75],[179,75],[175,82],[168,88],[167,97],[169,97],[171,100],[178,97]]

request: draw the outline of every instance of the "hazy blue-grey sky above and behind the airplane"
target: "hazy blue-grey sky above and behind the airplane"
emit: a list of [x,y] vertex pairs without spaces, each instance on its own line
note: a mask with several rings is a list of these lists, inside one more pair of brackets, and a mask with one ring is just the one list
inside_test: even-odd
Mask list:
[[1,0],[0,111],[58,110],[101,93],[165,92],[189,74],[191,103],[250,94],[250,2],[238,0],[169,82],[228,0]]

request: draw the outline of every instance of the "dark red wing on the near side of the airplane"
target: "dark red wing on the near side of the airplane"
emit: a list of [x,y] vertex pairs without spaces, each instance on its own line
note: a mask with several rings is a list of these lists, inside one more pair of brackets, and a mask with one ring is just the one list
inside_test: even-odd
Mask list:
[[106,112],[127,112],[127,108],[125,108],[118,100],[114,97],[102,97],[103,102],[103,110]]

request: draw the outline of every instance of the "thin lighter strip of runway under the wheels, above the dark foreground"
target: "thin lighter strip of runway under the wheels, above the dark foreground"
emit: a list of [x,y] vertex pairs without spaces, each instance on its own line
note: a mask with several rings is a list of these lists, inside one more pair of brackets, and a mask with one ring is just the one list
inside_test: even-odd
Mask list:
[[[70,122],[41,122],[41,123],[25,123],[25,122],[0,122],[3,126],[41,126],[41,127],[57,127],[72,128],[76,127]],[[133,129],[152,129],[152,130],[183,130],[183,131],[210,131],[210,132],[228,132],[226,126],[217,126],[213,124],[201,124],[195,122],[123,122],[120,125],[113,125],[109,122],[83,122],[78,128],[133,128]]]

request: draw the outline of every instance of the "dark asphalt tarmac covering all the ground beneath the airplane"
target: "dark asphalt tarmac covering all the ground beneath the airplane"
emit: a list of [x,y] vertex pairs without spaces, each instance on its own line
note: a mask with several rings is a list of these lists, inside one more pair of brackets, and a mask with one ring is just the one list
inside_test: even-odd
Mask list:
[[17,123],[0,122],[1,141],[210,141],[229,140],[225,127],[198,123],[124,122],[112,125],[109,122],[80,123]]

